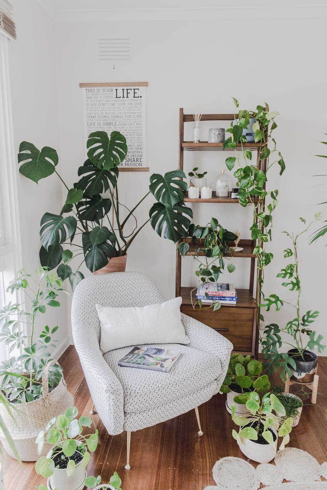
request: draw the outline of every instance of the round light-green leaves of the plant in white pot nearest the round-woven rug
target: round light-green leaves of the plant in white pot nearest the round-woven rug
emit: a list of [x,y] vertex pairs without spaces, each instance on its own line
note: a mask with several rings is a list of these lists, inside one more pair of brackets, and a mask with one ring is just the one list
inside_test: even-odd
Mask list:
[[[235,417],[236,405],[231,406],[231,417],[236,425],[240,426],[240,431],[232,431],[232,436],[240,445],[241,438],[257,441],[259,436],[262,436],[269,444],[274,446],[273,433],[269,430],[272,425],[277,430],[278,437],[283,440],[279,449],[284,449],[285,444],[290,440],[289,434],[292,430],[292,417],[285,420],[283,424],[279,424],[278,417],[285,417],[285,409],[278,398],[273,393],[263,395],[261,402],[258,393],[252,392],[246,403],[247,409],[251,415],[249,417]],[[275,414],[273,414],[275,412]]]

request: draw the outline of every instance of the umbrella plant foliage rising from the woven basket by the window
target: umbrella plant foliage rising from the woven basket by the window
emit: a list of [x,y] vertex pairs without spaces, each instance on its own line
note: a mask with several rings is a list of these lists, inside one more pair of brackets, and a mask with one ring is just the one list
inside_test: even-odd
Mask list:
[[[21,346],[24,352],[19,357],[13,356],[2,361],[0,366],[0,388],[12,403],[30,402],[42,397],[42,374],[46,365],[53,361],[48,348],[55,347],[55,343],[58,342],[51,338],[58,326],[50,329],[46,325],[40,336],[35,339],[34,324],[37,317],[46,312],[48,306],[60,306],[56,298],[59,291],[65,291],[63,282],[53,272],[42,267],[39,267],[35,274],[36,279],[24,269],[19,270],[17,277],[7,288],[7,292],[10,291],[11,294],[23,290],[31,300],[31,308],[26,311],[22,305],[10,302],[0,310],[0,342],[10,346],[9,352]],[[26,336],[19,330],[19,322],[24,322],[30,327],[30,335]],[[58,385],[62,378],[62,368],[58,364],[50,366],[48,378],[50,388]]]

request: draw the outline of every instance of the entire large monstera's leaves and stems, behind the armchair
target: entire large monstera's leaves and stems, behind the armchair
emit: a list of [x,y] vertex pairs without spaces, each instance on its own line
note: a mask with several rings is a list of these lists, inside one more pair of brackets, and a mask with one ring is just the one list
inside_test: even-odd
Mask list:
[[[113,131],[110,136],[105,131],[97,131],[89,135],[87,148],[88,159],[79,167],[80,178],[73,187],[68,187],[56,171],[58,155],[55,149],[43,147],[39,150],[32,143],[23,141],[18,154],[19,171],[25,177],[38,183],[55,173],[67,189],[61,211],[58,214],[47,212],[41,219],[40,261],[50,270],[57,267],[58,276],[62,280],[69,278],[73,290],[84,277],[79,271],[84,261],[87,268],[95,272],[106,266],[111,258],[126,255],[148,221],[158,235],[176,243],[186,235],[191,224],[189,218],[192,218],[192,210],[183,203],[187,189],[182,180],[184,172],[152,174],[149,192],[129,210],[120,202],[117,185],[119,165],[127,154],[125,137],[118,131]],[[157,202],[150,209],[149,219],[138,226],[134,211],[149,194],[153,194]],[[121,207],[127,209],[123,219]],[[129,219],[136,223],[132,233],[125,231]],[[68,248],[64,249],[63,245]],[[83,260],[73,271],[70,262],[76,255],[83,255]]]

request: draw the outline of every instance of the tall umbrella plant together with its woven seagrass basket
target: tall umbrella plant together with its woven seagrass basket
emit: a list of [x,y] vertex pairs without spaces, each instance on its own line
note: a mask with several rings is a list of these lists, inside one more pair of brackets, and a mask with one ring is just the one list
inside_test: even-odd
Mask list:
[[[14,348],[22,349],[23,354],[13,356],[1,363],[0,388],[9,407],[16,409],[15,419],[8,414],[6,406],[0,404],[0,416],[8,427],[9,433],[23,461],[36,461],[37,451],[32,443],[42,428],[42,420],[55,417],[74,402],[68,392],[62,376],[62,368],[51,358],[49,347],[55,347],[52,335],[58,326],[50,329],[48,325],[38,338],[35,338],[35,321],[48,307],[59,307],[56,299],[63,290],[63,282],[53,272],[42,267],[35,271],[36,279],[20,270],[13,279],[7,292],[13,294],[22,290],[31,301],[30,309],[26,305],[8,303],[0,310],[0,340]],[[15,317],[15,319],[13,319]],[[30,335],[24,335],[19,322],[30,328]],[[23,364],[23,368],[22,365]],[[5,437],[0,436],[4,448],[15,457]],[[46,448],[45,448],[46,450]]]

